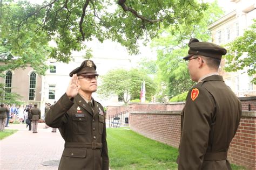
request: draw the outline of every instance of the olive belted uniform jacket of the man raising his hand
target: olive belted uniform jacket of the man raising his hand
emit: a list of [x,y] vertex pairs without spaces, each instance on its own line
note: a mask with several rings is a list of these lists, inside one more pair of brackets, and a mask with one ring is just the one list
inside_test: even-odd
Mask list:
[[64,94],[45,117],[65,140],[59,169],[109,169],[104,110],[92,101],[94,112],[79,94],[73,100]]

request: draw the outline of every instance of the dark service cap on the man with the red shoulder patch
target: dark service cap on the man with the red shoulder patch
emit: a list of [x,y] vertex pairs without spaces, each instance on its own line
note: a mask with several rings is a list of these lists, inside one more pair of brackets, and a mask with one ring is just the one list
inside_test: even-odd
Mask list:
[[183,59],[187,60],[193,55],[203,55],[214,59],[221,59],[227,53],[227,50],[217,44],[211,42],[199,42],[196,38],[191,38],[188,42],[188,55]]

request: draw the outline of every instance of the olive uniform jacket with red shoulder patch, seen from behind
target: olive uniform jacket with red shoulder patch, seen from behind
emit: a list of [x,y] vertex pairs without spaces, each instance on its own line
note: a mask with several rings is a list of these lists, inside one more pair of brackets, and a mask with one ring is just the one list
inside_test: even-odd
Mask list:
[[231,169],[227,151],[240,118],[241,102],[222,76],[196,84],[181,112],[178,169]]

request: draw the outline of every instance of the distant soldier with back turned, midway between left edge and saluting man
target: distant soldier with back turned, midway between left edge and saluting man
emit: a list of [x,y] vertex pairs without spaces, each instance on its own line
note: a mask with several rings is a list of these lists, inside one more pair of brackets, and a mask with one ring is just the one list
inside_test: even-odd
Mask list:
[[29,110],[29,118],[32,120],[32,131],[37,133],[38,121],[41,117],[41,110],[37,108],[37,104],[34,104],[34,107]]

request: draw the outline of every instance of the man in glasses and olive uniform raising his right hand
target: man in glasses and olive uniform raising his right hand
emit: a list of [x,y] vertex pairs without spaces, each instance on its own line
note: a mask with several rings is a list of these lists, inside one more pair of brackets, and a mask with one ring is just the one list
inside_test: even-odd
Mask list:
[[96,65],[85,60],[70,76],[66,93],[45,118],[65,140],[59,169],[109,169],[104,110],[92,98],[97,90]]

